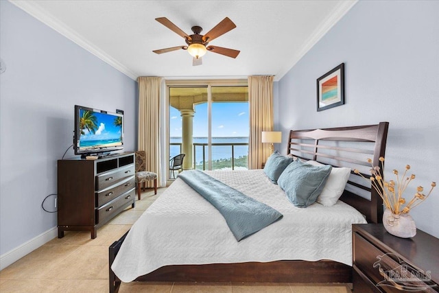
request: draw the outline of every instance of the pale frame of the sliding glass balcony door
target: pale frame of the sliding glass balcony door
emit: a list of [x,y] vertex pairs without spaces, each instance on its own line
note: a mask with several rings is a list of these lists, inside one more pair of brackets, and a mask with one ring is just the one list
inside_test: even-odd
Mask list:
[[[208,153],[209,153],[209,165],[208,169],[212,168],[212,145],[211,145],[211,136],[212,136],[212,129],[211,129],[211,107],[212,107],[212,93],[211,93],[211,87],[213,86],[248,86],[248,80],[241,78],[241,79],[218,79],[218,80],[165,80],[165,109],[166,109],[166,158],[169,158],[169,88],[171,87],[207,87],[207,103],[208,103]],[[169,163],[167,164],[167,177],[169,177]],[[167,180],[171,180],[170,178],[167,178]]]

